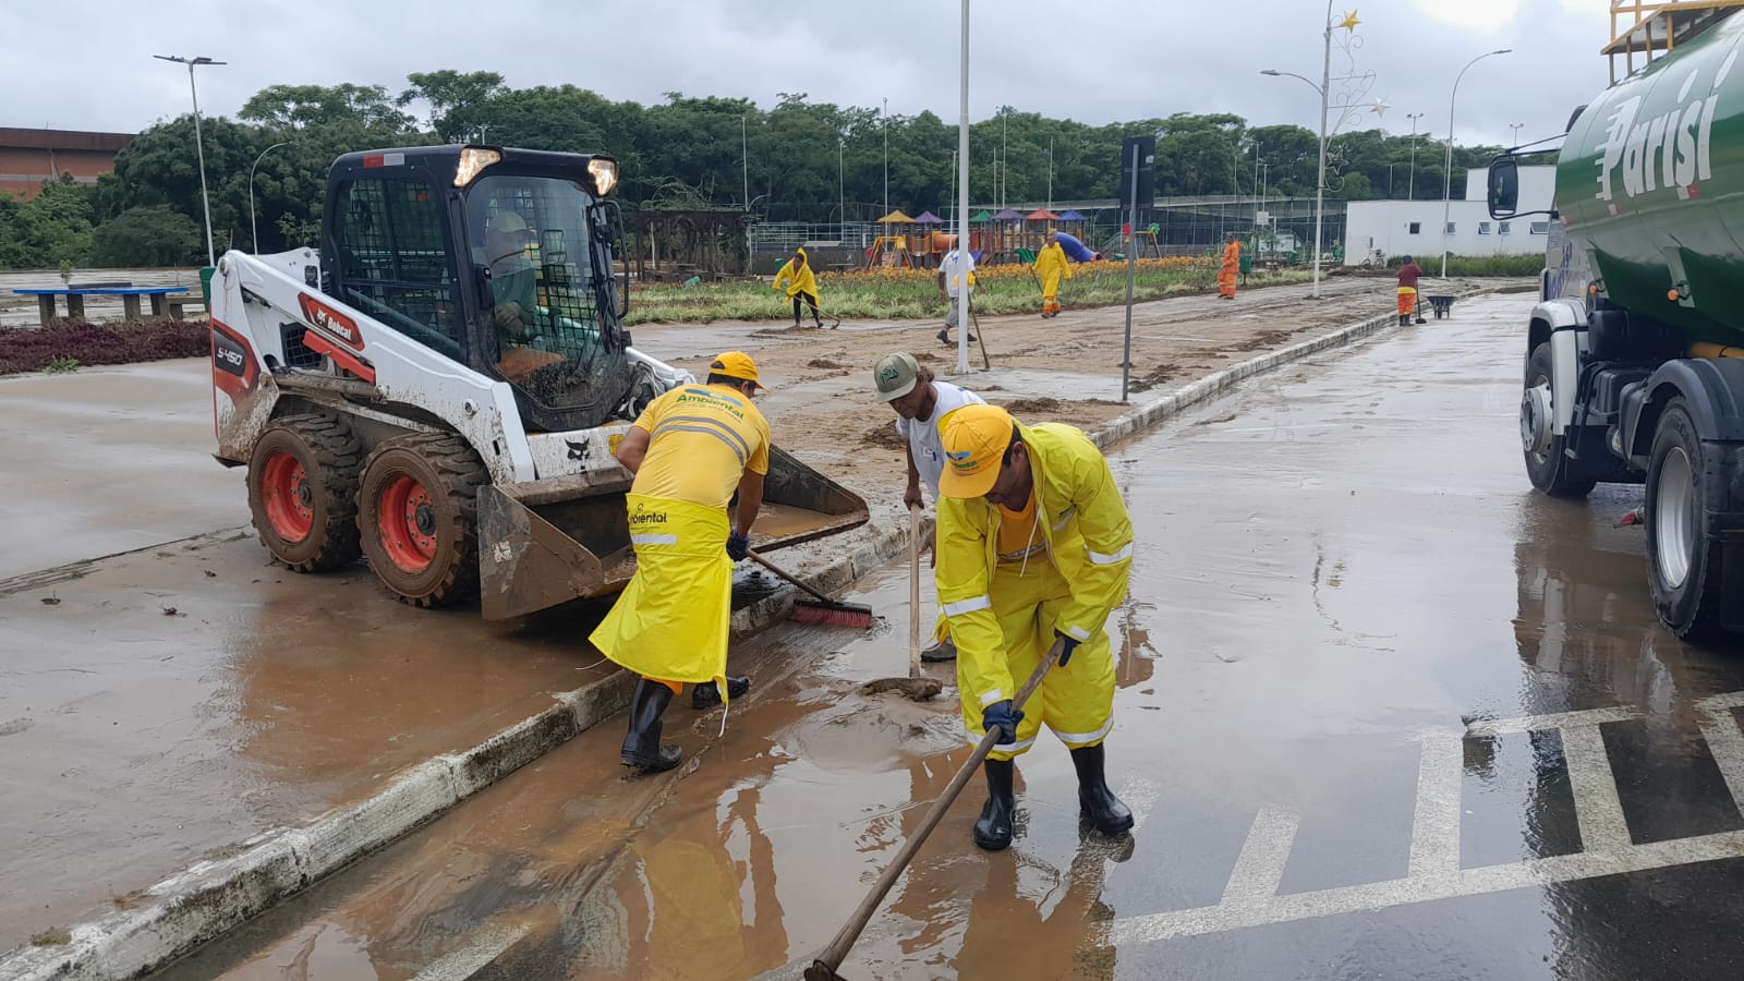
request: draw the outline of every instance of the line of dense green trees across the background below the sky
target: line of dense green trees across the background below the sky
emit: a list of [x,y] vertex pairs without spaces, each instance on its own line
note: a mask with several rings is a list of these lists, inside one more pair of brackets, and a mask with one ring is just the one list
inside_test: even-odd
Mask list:
[[[945,213],[954,197],[957,127],[931,112],[884,117],[806,93],[781,93],[767,110],[684,93],[640,105],[576,86],[511,89],[494,72],[419,72],[406,82],[399,93],[269,86],[237,119],[202,119],[218,248],[316,244],[335,157],[457,141],[614,155],[628,209],[750,204],[760,220],[834,223],[882,215],[886,187],[889,208],[910,215]],[[1156,138],[1158,196],[1250,197],[1259,178],[1268,196],[1315,190],[1318,138],[1299,126],[1254,127],[1231,113],[1090,126],[1003,106],[971,124],[970,196],[977,204],[1116,197],[1127,136]],[[1406,197],[1409,187],[1418,199],[1439,199],[1444,152],[1418,134],[1413,164],[1407,136],[1341,133],[1329,143],[1327,192],[1362,201]],[[1495,152],[1454,150],[1456,192],[1465,169]],[[206,255],[201,215],[194,117],[183,115],[140,133],[115,173],[94,185],[63,176],[28,202],[0,194],[0,267],[197,264]]]

